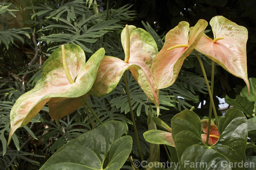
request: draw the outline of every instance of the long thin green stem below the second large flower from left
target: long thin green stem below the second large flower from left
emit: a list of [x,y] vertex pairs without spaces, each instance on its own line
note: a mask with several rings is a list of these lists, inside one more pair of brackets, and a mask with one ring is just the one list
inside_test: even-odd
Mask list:
[[131,106],[131,99],[130,99],[130,93],[129,93],[129,88],[128,88],[126,71],[125,71],[125,74],[124,74],[124,79],[125,79],[125,88],[126,88],[128,103],[129,103],[129,106],[130,106],[131,119],[132,119],[134,131],[135,131],[135,135],[136,135],[137,145],[138,145],[138,148],[139,148],[140,159],[141,159],[141,161],[143,161],[144,158],[143,158],[143,154],[142,154],[142,151],[141,151],[139,135],[138,135],[138,131],[137,131],[137,127],[136,127],[136,123],[135,123],[135,119],[134,119],[134,115],[133,115],[133,111],[132,111],[132,106]]

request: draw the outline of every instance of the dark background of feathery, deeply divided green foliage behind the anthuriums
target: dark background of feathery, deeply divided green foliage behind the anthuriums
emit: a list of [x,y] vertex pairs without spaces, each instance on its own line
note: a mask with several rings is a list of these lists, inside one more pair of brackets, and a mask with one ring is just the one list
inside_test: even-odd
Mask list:
[[[10,148],[6,147],[12,105],[21,94],[33,88],[41,76],[42,64],[61,44],[80,45],[87,59],[100,47],[105,48],[106,55],[124,59],[120,32],[125,24],[150,32],[160,50],[165,34],[180,21],[188,21],[193,26],[198,19],[209,22],[213,16],[223,15],[248,29],[248,77],[255,77],[255,0],[97,0],[99,6],[93,4],[93,0],[5,0],[1,5],[3,2],[3,6],[12,5],[7,9],[0,8],[0,169],[39,169],[68,140],[90,130],[83,108],[62,118],[59,127],[48,115],[46,105],[30,124],[17,130]],[[203,62],[210,76],[211,61],[203,58]],[[200,102],[201,109],[196,109],[196,112],[200,117],[208,114],[209,98],[201,75],[199,63],[191,54],[185,60],[177,81],[160,91],[162,120],[170,123],[180,110],[191,106],[197,108]],[[142,134],[147,130],[146,114],[152,103],[146,103],[147,97],[130,73],[128,81],[143,154],[148,157],[148,143]],[[228,94],[235,98],[244,86],[242,79],[216,66],[214,96]],[[122,121],[127,133],[135,138],[130,116],[126,114],[129,106],[124,87],[121,81],[110,94],[102,98],[90,97],[89,103],[102,122]],[[217,108],[218,104],[215,98]],[[93,121],[95,126],[99,125],[95,119]],[[138,158],[137,150],[134,144],[131,154],[134,158]],[[246,151],[247,155],[255,155],[252,150]],[[162,154],[160,161],[166,157]],[[124,169],[129,167],[124,166]]]

